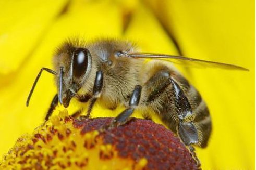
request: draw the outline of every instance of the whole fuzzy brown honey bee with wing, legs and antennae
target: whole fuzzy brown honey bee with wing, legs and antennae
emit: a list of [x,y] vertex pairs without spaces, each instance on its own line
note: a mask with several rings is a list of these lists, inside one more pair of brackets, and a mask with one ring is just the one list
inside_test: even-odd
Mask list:
[[[145,62],[146,58],[153,58]],[[67,41],[54,55],[54,69],[42,68],[27,99],[27,106],[43,70],[55,75],[58,94],[52,100],[45,120],[58,102],[69,106],[72,98],[89,102],[87,117],[94,103],[109,109],[123,104],[126,109],[108,127],[126,123],[135,109],[152,110],[187,146],[200,166],[192,145],[206,147],[212,130],[208,107],[198,90],[176,70],[170,61],[189,61],[225,69],[247,70],[239,66],[136,51],[127,41],[97,40],[92,43]]]

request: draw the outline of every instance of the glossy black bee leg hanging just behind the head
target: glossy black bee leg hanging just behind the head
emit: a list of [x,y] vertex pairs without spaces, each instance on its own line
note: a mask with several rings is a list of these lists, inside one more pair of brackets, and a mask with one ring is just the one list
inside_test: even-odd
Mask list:
[[86,117],[90,117],[92,107],[94,106],[97,98],[101,96],[102,87],[103,87],[103,72],[100,70],[96,72],[95,82],[93,85],[93,94],[92,94],[92,98],[90,99],[90,104],[87,110]]

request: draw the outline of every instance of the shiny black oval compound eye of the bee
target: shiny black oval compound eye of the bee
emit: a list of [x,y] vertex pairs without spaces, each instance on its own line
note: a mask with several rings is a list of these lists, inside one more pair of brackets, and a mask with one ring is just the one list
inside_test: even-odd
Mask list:
[[85,48],[78,48],[74,51],[73,76],[80,78],[86,73],[89,55],[89,50]]

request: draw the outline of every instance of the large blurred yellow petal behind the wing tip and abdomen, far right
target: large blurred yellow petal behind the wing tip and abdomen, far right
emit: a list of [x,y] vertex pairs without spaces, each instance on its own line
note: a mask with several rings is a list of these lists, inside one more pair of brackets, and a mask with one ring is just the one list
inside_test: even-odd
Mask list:
[[238,64],[250,72],[190,69],[212,115],[203,169],[255,168],[254,1],[148,1],[185,56]]

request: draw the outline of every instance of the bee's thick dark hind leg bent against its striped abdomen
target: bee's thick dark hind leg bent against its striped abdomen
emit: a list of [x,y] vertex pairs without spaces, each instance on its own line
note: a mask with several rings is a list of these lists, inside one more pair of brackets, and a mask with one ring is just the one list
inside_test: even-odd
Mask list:
[[148,103],[157,100],[162,94],[166,93],[167,89],[171,89],[175,106],[174,112],[175,116],[177,116],[177,124],[175,123],[176,128],[174,130],[177,132],[181,142],[188,147],[193,160],[200,169],[200,161],[192,146],[192,144],[197,145],[199,143],[198,130],[193,123],[195,115],[184,91],[175,81],[174,77],[172,77],[172,74],[169,74],[168,70],[163,70],[153,75],[148,81],[147,86],[149,89],[152,89],[148,96]]

